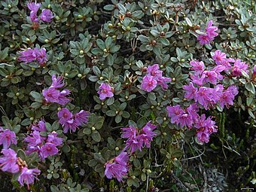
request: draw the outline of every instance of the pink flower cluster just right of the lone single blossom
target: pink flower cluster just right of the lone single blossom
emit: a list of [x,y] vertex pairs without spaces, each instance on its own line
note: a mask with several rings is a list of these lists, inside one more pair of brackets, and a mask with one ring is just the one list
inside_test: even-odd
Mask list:
[[154,64],[153,66],[148,66],[147,75],[142,79],[142,90],[151,92],[159,84],[162,89],[166,90],[168,85],[166,82],[171,81],[170,78],[163,77],[163,71],[159,70],[159,65]]

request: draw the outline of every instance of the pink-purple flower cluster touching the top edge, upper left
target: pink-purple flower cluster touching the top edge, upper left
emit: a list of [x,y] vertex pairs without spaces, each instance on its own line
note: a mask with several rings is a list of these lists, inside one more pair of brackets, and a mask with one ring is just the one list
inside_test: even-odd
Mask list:
[[[27,6],[30,10],[30,15],[29,15],[30,20],[33,23],[39,23],[38,10],[41,7],[41,3],[30,2]],[[40,15],[41,21],[50,23],[52,19],[53,19],[53,13],[50,11],[50,9],[43,9],[43,11],[41,11],[41,15]]]

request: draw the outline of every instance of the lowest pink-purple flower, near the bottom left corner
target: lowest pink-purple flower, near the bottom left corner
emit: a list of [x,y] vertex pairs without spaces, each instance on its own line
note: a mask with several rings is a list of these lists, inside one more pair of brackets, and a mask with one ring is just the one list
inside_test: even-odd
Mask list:
[[27,187],[29,189],[29,184],[34,183],[34,179],[37,175],[40,174],[40,172],[41,171],[39,169],[28,169],[26,166],[23,167],[23,169],[21,169],[21,174],[18,178],[20,185],[23,186],[24,184],[27,184]]

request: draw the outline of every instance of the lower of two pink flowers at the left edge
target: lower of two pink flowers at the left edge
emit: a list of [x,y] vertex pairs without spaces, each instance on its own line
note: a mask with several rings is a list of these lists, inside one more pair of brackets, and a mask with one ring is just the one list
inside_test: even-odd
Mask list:
[[4,157],[0,157],[0,167],[3,172],[17,173],[19,172],[19,166],[17,165],[17,154],[11,148],[2,149]]

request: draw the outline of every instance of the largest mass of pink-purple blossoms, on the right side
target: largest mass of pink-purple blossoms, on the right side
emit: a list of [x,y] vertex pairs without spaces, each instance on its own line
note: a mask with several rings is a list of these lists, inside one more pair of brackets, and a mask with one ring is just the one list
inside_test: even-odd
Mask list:
[[[197,129],[197,139],[200,142],[209,142],[209,136],[212,133],[217,132],[217,126],[215,121],[210,117],[206,119],[206,115],[201,116],[197,114],[200,104],[206,110],[209,108],[215,108],[218,105],[221,108],[233,105],[233,99],[238,94],[238,88],[234,85],[224,87],[221,84],[221,80],[224,79],[222,72],[238,77],[242,75],[241,71],[248,72],[248,66],[245,62],[241,62],[239,59],[227,58],[225,53],[221,53],[220,50],[216,50],[212,56],[216,66],[212,69],[207,68],[204,62],[191,61],[191,80],[188,85],[184,85],[184,97],[186,99],[193,99],[194,104],[190,105],[185,110],[180,105],[169,106],[167,111],[169,117],[171,117],[171,123],[176,123],[181,127],[187,126],[188,128]],[[233,63],[233,66],[231,65]]]

